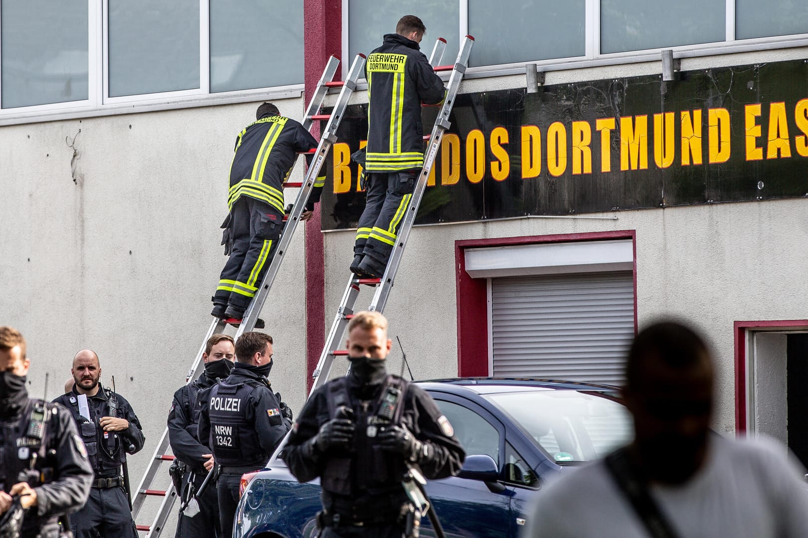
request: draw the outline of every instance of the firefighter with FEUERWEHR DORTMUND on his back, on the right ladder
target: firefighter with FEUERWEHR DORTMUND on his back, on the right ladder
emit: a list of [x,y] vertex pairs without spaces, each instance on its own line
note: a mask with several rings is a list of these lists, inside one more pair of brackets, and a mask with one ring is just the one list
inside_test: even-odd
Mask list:
[[[423,167],[421,102],[436,104],[444,83],[420,52],[427,28],[405,15],[396,33],[368,56],[368,146],[364,174],[367,202],[359,219],[351,272],[381,277],[396,241],[399,224]],[[372,88],[372,91],[371,91]]]

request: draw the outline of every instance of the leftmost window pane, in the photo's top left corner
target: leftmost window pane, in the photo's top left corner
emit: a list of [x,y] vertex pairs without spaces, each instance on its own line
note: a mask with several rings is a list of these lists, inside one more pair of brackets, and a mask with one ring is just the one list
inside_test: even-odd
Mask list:
[[87,98],[87,0],[2,0],[2,107]]

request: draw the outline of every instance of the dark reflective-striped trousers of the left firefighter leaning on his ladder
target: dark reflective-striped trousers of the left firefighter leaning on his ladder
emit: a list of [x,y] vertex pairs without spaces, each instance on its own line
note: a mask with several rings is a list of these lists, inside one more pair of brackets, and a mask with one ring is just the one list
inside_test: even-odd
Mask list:
[[230,209],[233,247],[221,270],[215,304],[245,311],[275,255],[284,215],[266,202],[242,196]]

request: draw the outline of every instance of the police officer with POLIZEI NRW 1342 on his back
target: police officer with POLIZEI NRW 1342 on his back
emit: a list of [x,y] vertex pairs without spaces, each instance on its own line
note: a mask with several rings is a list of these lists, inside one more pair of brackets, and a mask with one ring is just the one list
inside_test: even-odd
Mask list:
[[217,481],[221,534],[230,538],[242,474],[262,469],[283,440],[292,417],[272,393],[272,337],[245,332],[236,341],[233,372],[211,387],[200,414],[199,438],[220,466]]

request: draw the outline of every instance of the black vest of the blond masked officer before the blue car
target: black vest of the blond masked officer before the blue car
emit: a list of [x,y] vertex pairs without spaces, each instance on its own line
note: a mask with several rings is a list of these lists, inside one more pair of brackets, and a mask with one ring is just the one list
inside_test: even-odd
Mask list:
[[[388,375],[378,397],[365,410],[353,407],[354,438],[350,456],[329,457],[321,477],[322,489],[332,494],[350,496],[354,490],[389,488],[402,481],[406,471],[404,458],[383,450],[376,442],[384,427],[402,423],[406,382],[401,377]],[[339,407],[351,407],[347,377],[340,377],[327,385],[329,418],[335,419]],[[354,478],[351,480],[351,470]]]

